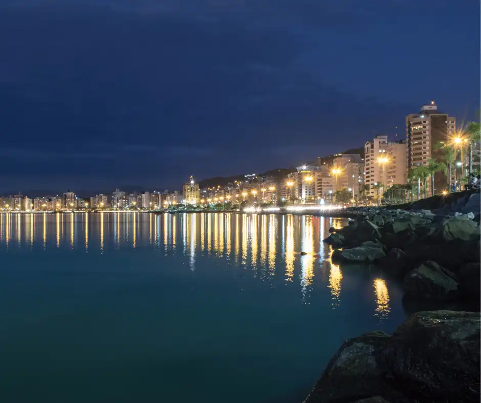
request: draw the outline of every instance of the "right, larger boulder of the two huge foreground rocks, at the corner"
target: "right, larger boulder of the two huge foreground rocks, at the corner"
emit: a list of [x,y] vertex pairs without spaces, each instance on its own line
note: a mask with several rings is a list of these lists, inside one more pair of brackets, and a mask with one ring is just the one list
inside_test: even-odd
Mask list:
[[479,313],[418,312],[383,350],[387,377],[412,401],[479,402]]

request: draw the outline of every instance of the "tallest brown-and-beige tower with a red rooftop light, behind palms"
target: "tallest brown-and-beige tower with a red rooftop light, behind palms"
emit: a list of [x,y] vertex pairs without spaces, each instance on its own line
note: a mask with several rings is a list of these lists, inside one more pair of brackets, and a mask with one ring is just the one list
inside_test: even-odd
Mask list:
[[[429,158],[438,158],[436,145],[448,141],[455,131],[456,118],[440,112],[434,101],[422,106],[419,113],[406,116],[408,168],[425,166]],[[446,175],[442,171],[436,173],[434,190],[445,187]]]

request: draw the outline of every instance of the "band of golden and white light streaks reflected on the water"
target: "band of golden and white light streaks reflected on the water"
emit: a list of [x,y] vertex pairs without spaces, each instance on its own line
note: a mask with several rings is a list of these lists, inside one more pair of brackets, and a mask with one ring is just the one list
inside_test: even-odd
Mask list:
[[[63,225],[64,216],[70,219],[70,226]],[[21,220],[24,222],[20,224]],[[332,263],[332,248],[322,239],[330,226],[336,228],[345,224],[345,220],[323,217],[235,213],[0,214],[0,248],[16,248],[17,242],[11,242],[14,239],[19,240],[20,248],[21,242],[29,244],[30,248],[55,248],[56,240],[57,247],[83,249],[80,239],[84,236],[84,250],[88,253],[109,252],[109,247],[151,248],[154,244],[156,249],[159,246],[168,254],[176,248],[176,231],[181,230],[187,247],[181,253],[186,254],[190,270],[199,271],[203,267],[200,253],[204,251],[229,262],[232,270],[241,263],[240,267],[252,276],[267,276],[269,284],[281,281],[285,285],[297,285],[301,300],[311,298],[314,287],[324,288],[336,308],[341,301],[343,273],[339,265]],[[390,314],[387,285],[380,278],[368,281],[369,286],[374,286],[374,316],[382,321]]]

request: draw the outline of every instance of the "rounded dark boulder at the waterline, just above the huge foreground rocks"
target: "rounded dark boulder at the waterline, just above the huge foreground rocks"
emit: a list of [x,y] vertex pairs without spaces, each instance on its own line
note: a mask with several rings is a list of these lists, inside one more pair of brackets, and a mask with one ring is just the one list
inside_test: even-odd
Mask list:
[[456,276],[438,263],[427,261],[406,275],[403,281],[407,298],[450,300],[457,293]]

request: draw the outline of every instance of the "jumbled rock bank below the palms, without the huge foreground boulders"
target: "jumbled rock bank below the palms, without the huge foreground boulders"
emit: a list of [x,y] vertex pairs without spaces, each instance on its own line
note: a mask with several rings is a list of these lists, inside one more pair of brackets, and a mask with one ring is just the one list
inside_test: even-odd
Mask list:
[[444,206],[429,199],[424,203],[435,208],[416,210],[414,203],[409,210],[352,209],[357,218],[331,229],[324,239],[336,248],[332,259],[377,264],[387,276],[403,281],[406,299],[465,301],[478,309],[479,192],[460,192]]

